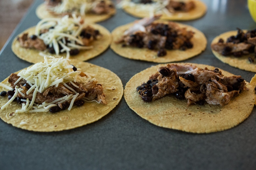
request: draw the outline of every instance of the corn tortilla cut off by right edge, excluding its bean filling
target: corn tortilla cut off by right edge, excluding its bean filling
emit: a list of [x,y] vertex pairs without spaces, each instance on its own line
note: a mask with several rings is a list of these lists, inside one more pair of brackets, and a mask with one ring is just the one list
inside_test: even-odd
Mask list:
[[[246,30],[244,30],[244,31],[246,31]],[[237,34],[237,30],[236,31],[235,30],[228,31],[223,34],[220,34],[219,36],[215,37],[212,40],[211,44],[217,43],[220,38],[222,38],[224,40],[224,42],[226,42],[228,37],[230,37],[232,35],[235,36],[236,34]],[[213,49],[212,49],[212,53],[219,60],[221,60],[222,62],[224,62],[232,67],[236,67],[241,70],[246,70],[246,71],[250,71],[250,72],[256,72],[256,64],[250,63],[248,60],[248,57],[254,58],[254,54],[243,55],[242,57],[234,57],[233,55],[232,56],[223,56],[223,55],[219,54],[218,52],[214,51]]]

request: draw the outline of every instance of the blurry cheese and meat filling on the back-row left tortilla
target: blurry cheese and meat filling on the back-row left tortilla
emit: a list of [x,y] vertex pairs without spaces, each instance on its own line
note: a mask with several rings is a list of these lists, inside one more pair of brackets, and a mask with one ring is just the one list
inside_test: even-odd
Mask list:
[[47,10],[56,15],[73,14],[85,16],[108,14],[114,9],[110,0],[45,0]]

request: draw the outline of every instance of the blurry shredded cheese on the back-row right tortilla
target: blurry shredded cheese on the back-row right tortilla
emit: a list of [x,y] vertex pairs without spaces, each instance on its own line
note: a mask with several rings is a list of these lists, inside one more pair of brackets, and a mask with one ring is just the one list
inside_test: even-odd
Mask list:
[[137,11],[148,11],[150,16],[155,14],[167,14],[172,15],[172,13],[166,9],[165,7],[169,4],[169,0],[153,0],[152,4],[141,4],[141,3],[134,3],[132,0],[122,0],[117,7],[124,8],[130,7]]

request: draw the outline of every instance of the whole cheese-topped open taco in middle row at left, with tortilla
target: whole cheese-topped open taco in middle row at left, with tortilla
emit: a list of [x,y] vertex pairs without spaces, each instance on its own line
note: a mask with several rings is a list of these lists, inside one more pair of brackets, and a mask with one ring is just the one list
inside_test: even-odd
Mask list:
[[[25,30],[12,42],[12,51],[21,59],[37,63],[45,55],[85,61],[105,51],[112,41],[110,32],[97,24],[86,24],[73,15],[46,18]],[[38,55],[38,54],[41,54]]]

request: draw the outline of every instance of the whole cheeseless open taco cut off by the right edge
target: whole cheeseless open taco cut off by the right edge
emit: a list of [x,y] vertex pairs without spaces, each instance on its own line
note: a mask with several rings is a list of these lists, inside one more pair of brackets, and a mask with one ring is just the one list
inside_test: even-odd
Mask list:
[[225,32],[211,43],[213,54],[222,62],[256,72],[256,29]]

